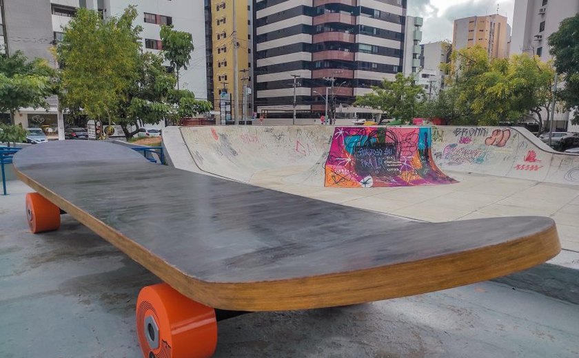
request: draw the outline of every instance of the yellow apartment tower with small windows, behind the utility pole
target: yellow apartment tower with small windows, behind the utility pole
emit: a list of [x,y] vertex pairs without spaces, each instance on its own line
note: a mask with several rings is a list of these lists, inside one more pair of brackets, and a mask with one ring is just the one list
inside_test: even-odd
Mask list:
[[[251,118],[253,113],[252,3],[248,0],[206,0],[205,2],[208,3],[205,18],[206,36],[211,43],[211,51],[207,51],[207,66],[212,67],[207,83],[210,83],[210,98],[214,103],[214,109],[221,112],[223,124],[226,121],[227,123],[234,122],[236,116],[243,120],[241,118],[243,114],[245,118]],[[237,74],[234,61],[237,61]]]

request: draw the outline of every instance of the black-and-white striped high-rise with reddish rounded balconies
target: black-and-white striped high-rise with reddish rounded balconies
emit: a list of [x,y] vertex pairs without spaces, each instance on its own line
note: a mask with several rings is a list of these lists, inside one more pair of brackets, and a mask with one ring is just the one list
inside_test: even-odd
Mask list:
[[[298,118],[326,112],[372,118],[352,107],[383,78],[403,71],[406,1],[254,0],[258,114]],[[294,76],[296,88],[294,89]],[[328,111],[326,110],[328,102]]]

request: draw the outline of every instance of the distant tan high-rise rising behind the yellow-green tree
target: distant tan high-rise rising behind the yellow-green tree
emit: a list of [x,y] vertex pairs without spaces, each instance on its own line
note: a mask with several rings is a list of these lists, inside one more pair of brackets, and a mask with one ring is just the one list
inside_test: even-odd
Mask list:
[[509,36],[511,27],[502,15],[465,17],[454,20],[452,49],[480,45],[487,50],[490,59],[504,59],[509,56]]

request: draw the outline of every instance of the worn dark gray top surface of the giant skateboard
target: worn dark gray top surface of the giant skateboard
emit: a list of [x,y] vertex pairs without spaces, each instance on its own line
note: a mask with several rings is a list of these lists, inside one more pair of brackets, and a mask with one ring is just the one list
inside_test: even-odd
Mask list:
[[531,216],[414,222],[138,157],[110,143],[52,142],[24,149],[14,167],[205,282],[349,273],[494,246],[553,225]]

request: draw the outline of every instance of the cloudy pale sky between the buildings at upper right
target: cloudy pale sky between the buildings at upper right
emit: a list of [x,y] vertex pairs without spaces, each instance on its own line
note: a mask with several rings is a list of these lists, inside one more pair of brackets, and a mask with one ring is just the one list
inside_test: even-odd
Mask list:
[[452,41],[455,19],[496,14],[497,4],[512,26],[515,0],[407,0],[407,14],[424,18],[421,43]]

